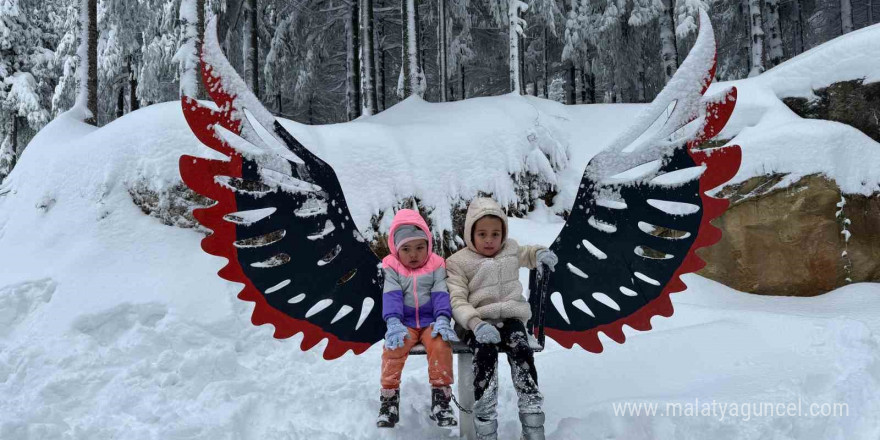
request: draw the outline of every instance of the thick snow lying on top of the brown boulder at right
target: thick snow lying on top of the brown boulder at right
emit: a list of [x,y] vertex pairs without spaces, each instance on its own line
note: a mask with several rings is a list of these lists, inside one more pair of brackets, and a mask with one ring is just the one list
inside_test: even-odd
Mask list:
[[880,191],[880,144],[845,124],[802,119],[781,101],[863,78],[880,80],[880,25],[838,37],[755,78],[712,84],[709,94],[731,86],[739,92],[733,116],[719,134],[743,150],[742,166],[728,185],[768,173],[788,174],[776,186],[781,188],[823,174],[846,194]]

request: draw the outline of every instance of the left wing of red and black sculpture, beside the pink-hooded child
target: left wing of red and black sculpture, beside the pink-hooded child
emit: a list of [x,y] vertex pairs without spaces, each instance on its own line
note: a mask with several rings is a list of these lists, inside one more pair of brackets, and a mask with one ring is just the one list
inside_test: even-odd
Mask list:
[[183,156],[180,172],[217,203],[193,214],[213,234],[202,248],[244,284],[252,322],[276,338],[303,333],[302,349],[328,339],[326,359],[382,339],[380,261],[355,227],[333,169],[263,108],[229,66],[209,25],[202,79],[218,111],[185,97],[193,133],[226,160]]

